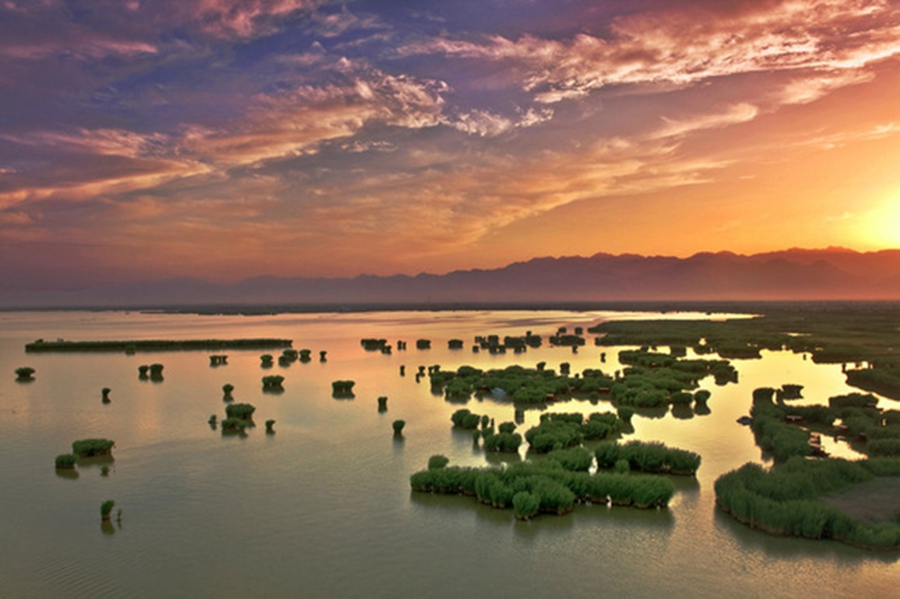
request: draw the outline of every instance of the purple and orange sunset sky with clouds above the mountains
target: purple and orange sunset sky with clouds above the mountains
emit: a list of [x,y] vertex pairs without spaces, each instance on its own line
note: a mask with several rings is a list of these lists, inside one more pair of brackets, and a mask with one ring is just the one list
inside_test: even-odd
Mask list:
[[900,3],[0,0],[0,281],[900,247]]

